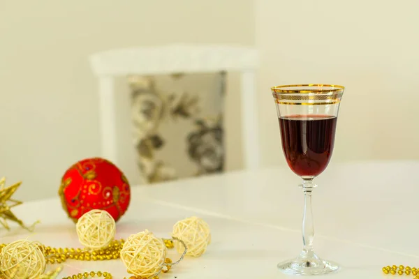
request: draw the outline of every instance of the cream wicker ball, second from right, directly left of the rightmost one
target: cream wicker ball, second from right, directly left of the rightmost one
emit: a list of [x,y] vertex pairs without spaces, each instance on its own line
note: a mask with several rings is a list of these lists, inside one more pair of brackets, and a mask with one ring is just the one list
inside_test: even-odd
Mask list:
[[126,239],[121,250],[121,259],[128,273],[148,278],[161,270],[166,254],[167,248],[163,240],[146,229]]

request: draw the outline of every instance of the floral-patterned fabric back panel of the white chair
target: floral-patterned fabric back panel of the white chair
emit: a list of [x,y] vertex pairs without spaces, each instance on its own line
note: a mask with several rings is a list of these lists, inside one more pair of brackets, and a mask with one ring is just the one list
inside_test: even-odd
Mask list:
[[131,114],[145,183],[222,172],[225,73],[131,76]]

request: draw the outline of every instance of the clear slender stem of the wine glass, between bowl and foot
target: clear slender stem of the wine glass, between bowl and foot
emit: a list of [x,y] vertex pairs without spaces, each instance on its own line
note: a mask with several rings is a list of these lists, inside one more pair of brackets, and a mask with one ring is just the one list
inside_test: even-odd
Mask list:
[[302,254],[305,257],[313,257],[314,222],[313,211],[311,210],[311,192],[316,188],[313,179],[304,179],[302,182],[304,191],[304,215],[302,217]]

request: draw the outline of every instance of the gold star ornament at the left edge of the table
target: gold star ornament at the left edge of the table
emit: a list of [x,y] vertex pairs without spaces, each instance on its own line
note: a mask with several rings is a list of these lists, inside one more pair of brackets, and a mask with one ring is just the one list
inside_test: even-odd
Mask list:
[[12,222],[16,222],[20,225],[20,227],[23,227],[24,229],[27,229],[29,232],[32,232],[34,230],[34,227],[39,221],[36,221],[34,224],[32,224],[30,227],[27,227],[24,225],[22,220],[17,218],[15,214],[10,210],[13,207],[22,204],[22,202],[12,199],[12,195],[16,192],[17,188],[19,188],[20,184],[22,182],[17,182],[13,184],[12,186],[5,187],[6,184],[6,178],[0,179],[0,223],[5,227],[6,229],[10,229],[8,226],[7,220],[10,220]]

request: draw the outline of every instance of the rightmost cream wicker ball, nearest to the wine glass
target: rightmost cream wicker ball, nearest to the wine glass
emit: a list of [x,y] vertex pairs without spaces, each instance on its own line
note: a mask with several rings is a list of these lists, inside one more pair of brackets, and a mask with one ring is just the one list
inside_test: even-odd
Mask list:
[[[188,251],[186,255],[199,257],[207,250],[211,242],[210,226],[201,218],[191,217],[180,220],[173,226],[172,236],[184,241]],[[179,253],[184,252],[184,246],[179,241],[174,241]]]

